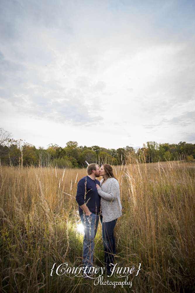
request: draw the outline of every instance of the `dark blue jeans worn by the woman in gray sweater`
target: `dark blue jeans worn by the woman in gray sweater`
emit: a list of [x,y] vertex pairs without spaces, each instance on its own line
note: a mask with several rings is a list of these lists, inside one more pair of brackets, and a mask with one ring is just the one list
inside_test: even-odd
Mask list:
[[104,263],[106,265],[107,274],[110,274],[110,263],[115,263],[114,256],[116,254],[115,248],[115,237],[114,237],[114,227],[116,225],[117,219],[111,222],[103,222],[102,216],[100,216],[100,222],[102,225],[102,239],[103,247],[105,252]]

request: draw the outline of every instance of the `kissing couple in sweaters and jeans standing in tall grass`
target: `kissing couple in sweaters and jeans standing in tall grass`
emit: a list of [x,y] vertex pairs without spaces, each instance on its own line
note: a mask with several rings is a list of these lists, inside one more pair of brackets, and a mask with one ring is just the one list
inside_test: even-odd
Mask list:
[[[101,181],[96,178],[103,177]],[[83,238],[83,268],[93,266],[94,239],[99,219],[102,225],[102,239],[105,252],[104,263],[107,275],[111,273],[110,263],[115,263],[114,227],[117,219],[122,216],[120,190],[113,168],[104,164],[99,169],[96,163],[89,164],[87,176],[77,185],[76,201],[79,205],[79,215],[84,229]],[[90,276],[89,269],[85,270]]]

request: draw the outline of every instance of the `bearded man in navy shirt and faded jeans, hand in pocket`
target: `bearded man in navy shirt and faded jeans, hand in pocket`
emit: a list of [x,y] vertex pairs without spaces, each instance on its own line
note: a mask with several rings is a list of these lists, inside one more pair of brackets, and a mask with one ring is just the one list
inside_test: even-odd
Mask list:
[[[83,257],[84,268],[93,266],[94,239],[96,236],[101,198],[97,192],[96,184],[100,185],[99,166],[95,163],[87,167],[87,176],[77,185],[76,201],[79,205],[79,215],[84,228]],[[85,270],[88,272],[88,269]]]

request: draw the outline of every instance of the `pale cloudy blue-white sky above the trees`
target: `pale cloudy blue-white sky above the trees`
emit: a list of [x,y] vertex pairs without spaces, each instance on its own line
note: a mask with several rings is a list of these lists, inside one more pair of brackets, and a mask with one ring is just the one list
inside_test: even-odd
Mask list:
[[194,0],[1,0],[0,66],[13,139],[195,143]]

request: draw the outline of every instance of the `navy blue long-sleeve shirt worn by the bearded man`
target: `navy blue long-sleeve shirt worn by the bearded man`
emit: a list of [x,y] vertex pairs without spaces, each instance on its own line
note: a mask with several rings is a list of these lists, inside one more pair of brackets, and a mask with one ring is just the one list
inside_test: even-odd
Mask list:
[[[88,209],[93,214],[100,213],[101,197],[98,194],[96,184],[100,185],[99,180],[91,179],[89,176],[82,178],[77,185],[76,201],[78,205],[87,205]],[[79,214],[83,210],[79,207]]]

